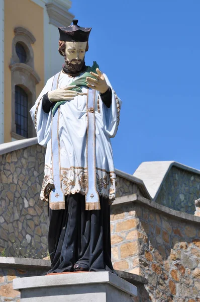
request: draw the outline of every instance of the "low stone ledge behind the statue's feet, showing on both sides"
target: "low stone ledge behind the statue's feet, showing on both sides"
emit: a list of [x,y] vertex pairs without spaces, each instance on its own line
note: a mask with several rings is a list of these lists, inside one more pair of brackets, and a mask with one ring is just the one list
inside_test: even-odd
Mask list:
[[[0,257],[0,267],[12,267],[22,269],[50,269],[51,261],[33,258]],[[136,274],[116,270],[119,277],[132,284],[147,284],[147,279]]]

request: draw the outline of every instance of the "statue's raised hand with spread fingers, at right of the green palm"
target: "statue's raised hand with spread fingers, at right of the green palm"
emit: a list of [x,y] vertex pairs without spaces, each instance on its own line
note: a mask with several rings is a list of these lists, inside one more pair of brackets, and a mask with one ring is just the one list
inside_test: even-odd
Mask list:
[[97,74],[90,72],[96,78],[96,80],[90,77],[86,78],[86,81],[89,83],[87,84],[87,87],[95,89],[100,93],[105,93],[109,89],[109,86],[106,83],[104,74],[98,68],[96,68],[96,72]]

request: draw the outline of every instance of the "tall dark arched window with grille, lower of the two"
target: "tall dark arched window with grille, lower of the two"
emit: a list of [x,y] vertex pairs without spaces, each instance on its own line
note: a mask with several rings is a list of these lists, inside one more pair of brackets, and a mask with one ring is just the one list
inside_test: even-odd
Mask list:
[[28,96],[20,86],[15,86],[15,123],[16,133],[28,137]]

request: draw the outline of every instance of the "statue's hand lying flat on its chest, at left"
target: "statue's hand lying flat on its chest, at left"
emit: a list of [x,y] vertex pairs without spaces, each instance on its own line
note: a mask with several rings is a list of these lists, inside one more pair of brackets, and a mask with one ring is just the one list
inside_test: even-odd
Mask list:
[[70,101],[73,100],[74,97],[77,96],[76,91],[72,91],[70,89],[76,87],[76,85],[73,86],[67,86],[64,88],[58,88],[52,91],[48,92],[48,98],[51,102],[58,102],[58,101]]

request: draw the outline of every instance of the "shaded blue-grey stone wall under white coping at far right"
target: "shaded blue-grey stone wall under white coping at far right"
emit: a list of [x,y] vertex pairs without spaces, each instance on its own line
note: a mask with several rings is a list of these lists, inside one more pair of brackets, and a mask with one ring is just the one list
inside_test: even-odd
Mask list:
[[193,214],[194,201],[200,196],[199,186],[198,174],[172,166],[155,201],[176,211]]

